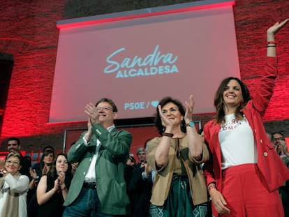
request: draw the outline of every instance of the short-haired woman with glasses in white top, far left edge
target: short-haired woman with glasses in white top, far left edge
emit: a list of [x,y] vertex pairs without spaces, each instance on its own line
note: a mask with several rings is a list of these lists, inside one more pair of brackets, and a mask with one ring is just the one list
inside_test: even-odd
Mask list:
[[0,217],[26,217],[29,178],[20,174],[22,156],[10,152],[0,178]]

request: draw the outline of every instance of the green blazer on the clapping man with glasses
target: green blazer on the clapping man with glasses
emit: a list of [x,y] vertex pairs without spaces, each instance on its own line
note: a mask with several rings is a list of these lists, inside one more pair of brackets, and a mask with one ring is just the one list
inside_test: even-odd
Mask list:
[[110,215],[127,214],[129,200],[124,180],[124,160],[129,154],[132,135],[126,130],[116,128],[109,132],[101,124],[94,124],[92,131],[94,135],[89,144],[84,144],[84,132],[68,151],[68,160],[71,163],[78,162],[78,166],[64,206],[71,205],[80,194],[98,139],[101,141],[101,148],[96,160],[96,190],[102,211]]

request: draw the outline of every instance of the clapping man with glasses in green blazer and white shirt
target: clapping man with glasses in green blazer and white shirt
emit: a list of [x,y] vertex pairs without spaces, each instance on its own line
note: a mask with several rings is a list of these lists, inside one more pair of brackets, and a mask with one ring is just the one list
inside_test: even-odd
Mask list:
[[128,214],[124,160],[132,135],[117,130],[117,106],[108,98],[85,107],[88,131],[68,151],[77,170],[64,202],[63,216],[121,216]]

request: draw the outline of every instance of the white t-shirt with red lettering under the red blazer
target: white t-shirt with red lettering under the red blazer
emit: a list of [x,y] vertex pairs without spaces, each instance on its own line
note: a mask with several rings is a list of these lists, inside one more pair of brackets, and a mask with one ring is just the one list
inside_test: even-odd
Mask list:
[[257,149],[253,131],[246,117],[242,121],[235,114],[225,116],[225,124],[218,133],[222,160],[222,170],[245,163],[257,163]]

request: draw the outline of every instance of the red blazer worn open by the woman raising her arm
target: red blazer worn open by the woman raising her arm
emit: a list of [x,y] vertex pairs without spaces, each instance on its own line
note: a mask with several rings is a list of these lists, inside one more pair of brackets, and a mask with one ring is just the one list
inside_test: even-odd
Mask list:
[[[258,150],[258,168],[262,174],[262,183],[271,192],[283,185],[289,179],[289,170],[282,162],[273,145],[269,142],[265,132],[262,117],[265,114],[269,100],[273,94],[274,80],[277,75],[277,60],[275,57],[267,57],[265,63],[265,75],[260,81],[260,87],[255,93],[255,97],[249,100],[244,112],[249,125],[253,130],[253,135]],[[207,185],[216,183],[216,188],[222,192],[222,170],[221,170],[221,149],[218,142],[218,132],[220,124],[215,124],[215,120],[205,124],[205,141],[212,156],[205,165],[205,178]]]

